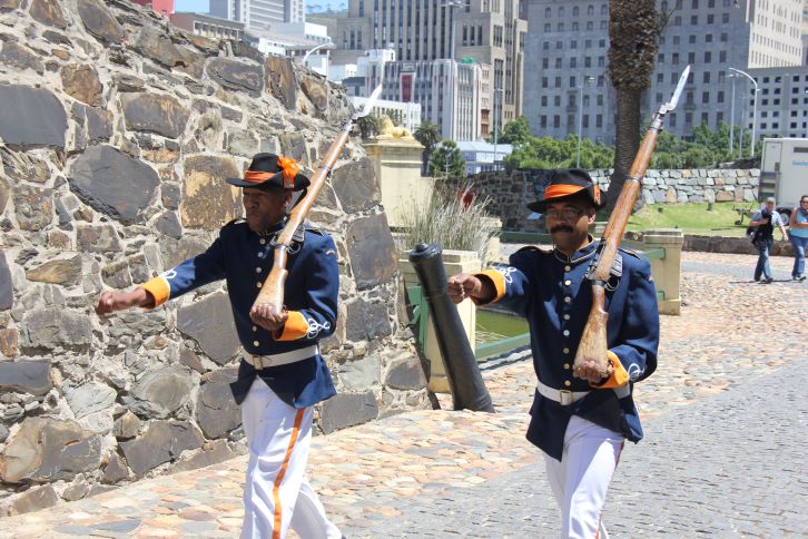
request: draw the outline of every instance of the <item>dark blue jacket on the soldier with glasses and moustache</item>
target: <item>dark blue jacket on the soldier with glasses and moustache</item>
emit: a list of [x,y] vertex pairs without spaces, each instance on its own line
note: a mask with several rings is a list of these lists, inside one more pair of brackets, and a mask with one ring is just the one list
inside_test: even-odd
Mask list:
[[[528,320],[539,380],[559,390],[591,391],[566,406],[534,394],[528,440],[558,460],[571,415],[622,433],[634,442],[642,438],[630,394],[619,399],[612,389],[593,388],[572,375],[592,303],[592,287],[584,276],[595,248],[597,242],[592,242],[568,257],[558,249],[528,247],[514,253],[510,265],[481,274],[494,283],[494,301]],[[621,371],[628,373],[629,383],[633,384],[657,367],[659,310],[650,264],[633,252],[621,253],[622,276],[615,290],[607,292],[607,339],[609,351],[620,360],[624,369]]]

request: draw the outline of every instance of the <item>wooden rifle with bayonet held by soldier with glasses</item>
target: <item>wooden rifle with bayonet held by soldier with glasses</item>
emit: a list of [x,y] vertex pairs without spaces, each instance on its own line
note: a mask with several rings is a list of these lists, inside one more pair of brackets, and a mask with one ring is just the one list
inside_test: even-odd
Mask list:
[[578,345],[578,352],[575,352],[574,366],[581,365],[587,360],[595,361],[603,376],[607,374],[607,350],[609,350],[607,344],[609,313],[605,311],[605,285],[620,247],[620,241],[625,233],[625,225],[629,223],[631,210],[640,194],[642,177],[646,175],[646,168],[657,146],[657,138],[662,130],[662,118],[676,108],[689,74],[690,66],[684,69],[679,78],[679,84],[670,101],[660,106],[653,116],[651,125],[646,131],[642,143],[640,143],[640,149],[631,164],[629,177],[625,179],[620,197],[614,204],[614,209],[612,209],[603,236],[598,245],[598,251],[587,273],[587,278],[592,283],[592,307],[589,312],[589,318],[587,318],[587,325],[583,329],[581,342]]

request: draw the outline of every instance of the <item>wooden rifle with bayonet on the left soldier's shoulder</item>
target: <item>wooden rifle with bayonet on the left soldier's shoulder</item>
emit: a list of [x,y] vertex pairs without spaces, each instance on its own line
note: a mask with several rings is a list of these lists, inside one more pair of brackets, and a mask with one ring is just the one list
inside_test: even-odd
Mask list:
[[303,199],[298,200],[292,212],[289,212],[286,225],[275,239],[275,256],[273,259],[273,267],[269,271],[269,275],[267,276],[266,281],[264,282],[264,286],[262,286],[260,292],[258,292],[258,297],[256,297],[255,302],[253,303],[253,308],[257,307],[258,305],[268,305],[272,313],[274,314],[279,314],[283,311],[284,284],[286,283],[286,276],[288,275],[288,272],[286,271],[286,263],[288,258],[287,255],[289,253],[289,249],[292,248],[292,242],[294,239],[295,232],[303,224],[306,216],[308,215],[308,212],[312,209],[312,206],[314,205],[314,199],[317,198],[317,195],[323,188],[326,178],[331,174],[331,170],[334,168],[334,164],[339,158],[339,154],[342,154],[343,148],[348,141],[348,137],[351,136],[351,130],[353,129],[354,124],[359,118],[362,118],[363,116],[367,116],[371,112],[371,109],[373,108],[373,105],[375,104],[380,94],[382,94],[382,85],[378,85],[376,89],[373,90],[373,94],[371,94],[371,97],[369,99],[367,99],[367,102],[363,107],[362,111],[355,112],[348,119],[348,121],[345,122],[342,130],[339,131],[339,135],[337,135],[337,138],[332,143],[332,145],[328,147],[328,150],[321,159],[319,168],[312,178],[312,183],[308,186],[306,196],[303,197]]

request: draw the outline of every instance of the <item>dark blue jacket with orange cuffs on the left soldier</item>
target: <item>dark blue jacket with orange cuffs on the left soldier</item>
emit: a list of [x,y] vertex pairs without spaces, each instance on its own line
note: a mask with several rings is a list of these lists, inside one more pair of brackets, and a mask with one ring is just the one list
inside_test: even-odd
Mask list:
[[[242,345],[256,355],[279,354],[316,344],[334,333],[337,315],[339,274],[332,238],[306,228],[300,251],[289,256],[284,302],[289,311],[283,333],[273,334],[253,324],[249,310],[273,266],[272,237],[283,228],[278,223],[267,235],[258,235],[246,223],[231,223],[219,231],[208,249],[145,283],[156,305],[221,278]],[[256,370],[242,361],[238,380],[231,384],[236,402],[247,395]],[[263,369],[260,378],[287,404],[311,406],[334,396],[336,390],[328,366],[319,354]]]

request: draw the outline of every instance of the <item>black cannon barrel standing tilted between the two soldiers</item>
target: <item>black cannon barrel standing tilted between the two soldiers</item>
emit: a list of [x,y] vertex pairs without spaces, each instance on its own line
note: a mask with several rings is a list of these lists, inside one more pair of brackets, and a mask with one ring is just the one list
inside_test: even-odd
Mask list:
[[493,412],[491,395],[480,374],[480,366],[466,339],[457,307],[447,294],[446,272],[441,254],[439,245],[418,244],[410,252],[410,262],[415,267],[424,297],[430,305],[454,409]]

